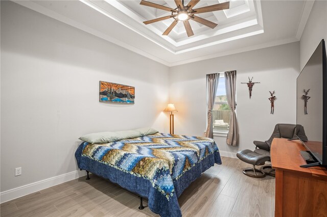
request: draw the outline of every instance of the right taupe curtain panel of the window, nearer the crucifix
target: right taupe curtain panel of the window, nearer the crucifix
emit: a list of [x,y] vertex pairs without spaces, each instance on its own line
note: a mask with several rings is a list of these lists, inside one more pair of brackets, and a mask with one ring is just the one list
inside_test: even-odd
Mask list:
[[227,102],[230,107],[230,120],[229,120],[229,131],[227,134],[226,143],[227,145],[237,146],[239,142],[239,130],[236,119],[236,71],[225,72],[225,86]]

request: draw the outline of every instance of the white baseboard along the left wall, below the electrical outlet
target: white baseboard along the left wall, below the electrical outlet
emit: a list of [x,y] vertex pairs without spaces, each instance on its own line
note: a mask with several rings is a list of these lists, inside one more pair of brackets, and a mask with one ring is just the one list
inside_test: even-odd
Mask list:
[[49,179],[44,179],[31,184],[16,187],[5,192],[0,192],[0,203],[20,198],[22,196],[29,195],[34,192],[41,191],[42,189],[52,187],[67,181],[71,181],[85,175],[85,171],[73,171]]

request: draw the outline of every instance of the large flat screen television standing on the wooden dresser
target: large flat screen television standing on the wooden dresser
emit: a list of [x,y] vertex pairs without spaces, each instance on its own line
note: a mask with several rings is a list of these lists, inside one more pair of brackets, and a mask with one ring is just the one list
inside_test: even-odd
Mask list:
[[327,166],[327,63],[325,42],[322,39],[306,66],[296,79],[296,124],[303,126],[310,166]]

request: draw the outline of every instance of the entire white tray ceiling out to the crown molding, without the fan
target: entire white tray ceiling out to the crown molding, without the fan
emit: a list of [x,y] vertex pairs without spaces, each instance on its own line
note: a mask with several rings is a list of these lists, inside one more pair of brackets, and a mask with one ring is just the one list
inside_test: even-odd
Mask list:
[[[176,8],[172,0],[148,1]],[[195,8],[225,1],[201,0]],[[188,37],[182,23],[162,36],[173,19],[145,25],[170,12],[139,5],[141,0],[13,2],[167,66],[298,41],[313,6],[313,1],[232,0],[230,9],[199,14],[218,23],[215,29],[190,20],[194,36]]]

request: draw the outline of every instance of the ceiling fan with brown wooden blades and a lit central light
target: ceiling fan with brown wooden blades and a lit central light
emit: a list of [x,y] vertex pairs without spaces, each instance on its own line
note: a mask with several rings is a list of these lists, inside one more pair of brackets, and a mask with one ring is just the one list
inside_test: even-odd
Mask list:
[[211,5],[211,6],[206,6],[206,7],[194,9],[193,7],[196,4],[198,4],[199,2],[200,2],[200,0],[191,0],[188,5],[184,6],[184,0],[182,0],[182,1],[181,0],[175,0],[175,4],[177,6],[177,8],[175,8],[175,9],[168,8],[166,6],[158,5],[158,4],[155,4],[155,3],[147,2],[147,1],[144,1],[144,0],[142,0],[141,3],[139,3],[139,4],[149,6],[149,7],[152,7],[152,8],[157,8],[157,9],[169,11],[169,12],[172,13],[171,15],[168,15],[168,16],[159,17],[159,18],[156,18],[156,19],[144,21],[145,24],[150,24],[150,23],[153,23],[153,22],[174,18],[175,20],[173,21],[173,23],[168,27],[168,29],[162,35],[167,36],[172,31],[172,29],[175,27],[175,25],[178,23],[178,21],[182,21],[184,23],[186,33],[188,34],[188,37],[190,37],[190,36],[193,36],[194,33],[193,33],[192,28],[191,28],[189,19],[192,19],[192,20],[194,20],[196,22],[199,22],[199,23],[201,23],[203,25],[206,25],[206,26],[208,26],[209,28],[212,28],[212,29],[214,29],[218,25],[217,23],[214,23],[212,21],[209,21],[209,20],[203,19],[201,17],[195,16],[195,14],[229,9],[229,2],[224,2],[224,3],[220,3],[220,4],[216,4],[216,5]]

